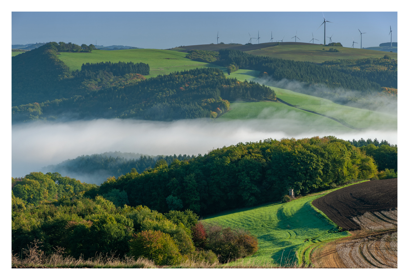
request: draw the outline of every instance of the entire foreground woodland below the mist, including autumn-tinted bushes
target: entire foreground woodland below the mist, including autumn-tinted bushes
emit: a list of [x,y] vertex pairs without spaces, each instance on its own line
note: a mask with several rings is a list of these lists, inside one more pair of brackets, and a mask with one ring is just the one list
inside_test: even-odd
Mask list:
[[267,139],[183,160],[158,158],[152,168],[139,173],[133,167],[99,186],[58,172],[31,172],[11,180],[13,254],[24,258],[27,244],[40,242],[46,254],[63,250],[76,258],[115,252],[157,265],[188,258],[236,260],[256,253],[257,238],[200,217],[279,201],[289,187],[300,197],[358,180],[396,177],[393,170],[378,172],[378,163],[366,154],[373,147],[396,148],[355,147],[333,136]]

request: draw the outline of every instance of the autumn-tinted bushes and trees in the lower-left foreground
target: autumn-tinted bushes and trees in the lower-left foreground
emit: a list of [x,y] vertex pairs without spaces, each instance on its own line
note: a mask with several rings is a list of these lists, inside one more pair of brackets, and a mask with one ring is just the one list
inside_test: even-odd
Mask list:
[[[81,185],[76,182],[41,172],[32,172],[20,181],[12,178],[13,255],[29,257],[34,242],[46,255],[57,250],[86,260],[99,253],[115,253],[135,260],[145,257],[158,265],[177,265],[188,258],[227,262],[258,249],[257,238],[248,232],[199,222],[191,210],[161,214],[142,205],[130,207],[126,193],[118,190],[90,198],[84,188],[92,192],[95,186],[70,185]],[[61,196],[58,189],[70,186],[72,190]],[[32,187],[33,192],[24,195],[22,187]]]

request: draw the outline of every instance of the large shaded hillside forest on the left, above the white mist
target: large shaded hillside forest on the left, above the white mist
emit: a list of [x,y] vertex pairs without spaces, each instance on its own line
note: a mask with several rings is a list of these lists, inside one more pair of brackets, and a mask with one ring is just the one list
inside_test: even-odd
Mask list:
[[[47,43],[29,54],[13,57],[13,122],[95,117],[215,118],[229,110],[228,99],[276,98],[271,88],[226,78],[216,68],[145,79],[132,72],[146,74],[148,64],[101,62],[84,64],[81,71],[70,73],[56,56],[57,47],[56,43]],[[44,72],[36,68],[44,68]]]

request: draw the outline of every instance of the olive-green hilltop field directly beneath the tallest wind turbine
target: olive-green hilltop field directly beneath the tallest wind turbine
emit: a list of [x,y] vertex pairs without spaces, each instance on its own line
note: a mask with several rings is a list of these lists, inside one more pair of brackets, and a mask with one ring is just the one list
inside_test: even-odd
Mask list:
[[[322,48],[325,48],[326,51],[323,51]],[[387,54],[382,51],[352,47],[332,47],[340,52],[328,52],[329,48],[330,47],[324,47],[322,45],[278,45],[276,47],[266,47],[261,50],[248,51],[247,53],[318,63],[335,59],[362,59],[366,57],[380,58]],[[388,55],[393,59],[398,59],[397,53],[389,52]]]

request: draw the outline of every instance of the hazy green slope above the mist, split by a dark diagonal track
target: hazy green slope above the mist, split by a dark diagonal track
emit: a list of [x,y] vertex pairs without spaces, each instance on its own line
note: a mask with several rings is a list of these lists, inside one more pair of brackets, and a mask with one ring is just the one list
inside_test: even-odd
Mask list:
[[[238,80],[244,81],[245,79],[258,81],[258,71],[243,70],[240,69],[231,73],[228,77],[235,77]],[[299,108],[315,111],[324,115],[335,117],[344,124],[348,124],[353,128],[381,128],[386,127],[393,129],[397,127],[397,116],[387,115],[380,112],[369,111],[365,109],[343,106],[336,104],[328,99],[306,95],[302,93],[296,93],[292,90],[285,90],[281,88],[271,87],[276,92],[278,98],[285,102],[299,106]],[[321,106],[320,106],[321,101]],[[243,102],[240,104],[236,102],[231,103],[232,110],[222,115],[220,120],[233,120],[233,119],[248,119],[249,117],[257,118],[276,118],[286,114],[285,118],[299,119],[301,122],[319,121],[319,126],[340,126],[339,123],[334,120],[330,120],[326,117],[321,117],[316,114],[308,113],[306,111],[298,110],[297,108],[290,107],[284,104],[275,102]],[[261,105],[263,104],[263,105]],[[265,108],[270,108],[265,110]],[[239,111],[240,110],[240,111]],[[284,111],[283,111],[284,110]],[[322,120],[325,119],[325,120]],[[317,123],[315,123],[317,125]]]

